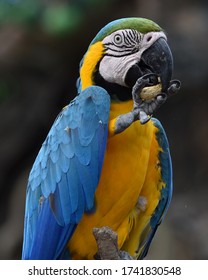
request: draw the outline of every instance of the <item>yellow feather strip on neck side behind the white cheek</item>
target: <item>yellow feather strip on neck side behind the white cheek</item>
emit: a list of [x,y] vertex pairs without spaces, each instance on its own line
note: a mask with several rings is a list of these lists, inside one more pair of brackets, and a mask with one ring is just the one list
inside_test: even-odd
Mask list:
[[80,69],[80,78],[82,81],[82,90],[93,85],[93,73],[96,65],[101,60],[104,53],[104,46],[102,42],[97,42],[90,46]]

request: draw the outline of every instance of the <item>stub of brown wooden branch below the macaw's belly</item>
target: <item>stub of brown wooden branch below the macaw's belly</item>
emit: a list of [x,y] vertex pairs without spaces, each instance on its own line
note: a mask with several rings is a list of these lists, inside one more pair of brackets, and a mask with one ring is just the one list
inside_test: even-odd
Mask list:
[[105,226],[94,228],[93,234],[98,246],[95,259],[100,260],[132,260],[133,258],[118,248],[118,235],[111,228]]

